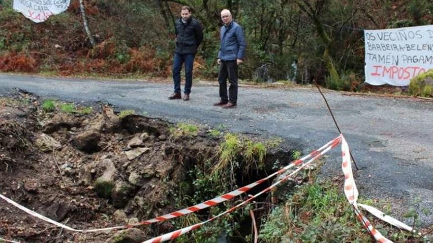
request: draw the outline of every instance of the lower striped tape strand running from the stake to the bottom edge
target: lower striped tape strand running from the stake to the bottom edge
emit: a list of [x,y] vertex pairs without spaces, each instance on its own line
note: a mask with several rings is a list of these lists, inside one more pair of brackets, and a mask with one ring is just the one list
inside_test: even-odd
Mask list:
[[[312,158],[311,158],[308,162],[305,162],[305,163],[301,164],[301,165],[300,165],[296,170],[294,170],[292,173],[290,173],[289,175],[283,177],[282,179],[279,179],[276,183],[274,183],[274,184],[271,185],[270,187],[268,187],[268,188],[266,188],[266,189],[260,191],[259,193],[255,194],[255,195],[253,195],[253,196],[250,196],[250,197],[249,197],[247,200],[245,200],[244,202],[242,202],[242,203],[240,203],[240,204],[238,204],[238,205],[236,205],[236,206],[230,208],[229,210],[224,211],[224,212],[220,213],[219,215],[214,216],[214,217],[212,217],[212,218],[210,218],[210,219],[208,219],[208,220],[206,220],[206,221],[203,221],[203,222],[201,222],[201,223],[197,223],[197,224],[194,224],[194,225],[191,225],[191,226],[188,226],[188,227],[185,227],[185,228],[182,228],[182,229],[179,229],[179,230],[176,230],[176,231],[173,231],[173,232],[170,232],[170,233],[164,234],[164,235],[162,235],[162,236],[158,236],[158,237],[152,238],[152,239],[147,240],[147,241],[145,241],[145,242],[143,242],[143,243],[161,243],[161,242],[165,242],[165,241],[174,240],[174,239],[176,239],[176,238],[178,238],[178,237],[180,237],[180,236],[182,236],[182,235],[188,233],[189,231],[192,231],[192,230],[195,230],[195,229],[200,228],[203,224],[206,224],[206,223],[208,223],[208,222],[211,222],[211,221],[215,220],[215,219],[218,218],[218,217],[221,217],[221,216],[227,215],[227,214],[229,214],[229,213],[235,211],[236,209],[241,208],[241,207],[243,207],[244,205],[247,205],[247,204],[248,204],[250,201],[252,201],[254,198],[256,198],[256,197],[262,195],[263,193],[268,192],[268,191],[271,190],[271,189],[274,189],[275,187],[278,186],[278,184],[280,184],[281,182],[286,181],[287,179],[289,179],[290,177],[292,177],[294,174],[298,173],[301,169],[303,169],[304,167],[306,167],[307,165],[309,165],[309,164],[312,163],[313,161],[315,161],[315,160],[317,160],[318,158],[320,158],[320,157],[321,157],[322,155],[324,155],[326,152],[328,152],[329,150],[335,148],[335,147],[340,143],[340,141],[341,141],[341,137],[342,137],[342,136],[340,135],[339,137],[337,137],[336,139],[334,139],[334,140],[332,141],[332,143],[330,144],[330,146],[328,146],[327,148],[325,148],[323,151],[314,153],[313,156],[310,156],[310,157],[312,157]],[[310,158],[310,157],[309,157],[309,158]]]

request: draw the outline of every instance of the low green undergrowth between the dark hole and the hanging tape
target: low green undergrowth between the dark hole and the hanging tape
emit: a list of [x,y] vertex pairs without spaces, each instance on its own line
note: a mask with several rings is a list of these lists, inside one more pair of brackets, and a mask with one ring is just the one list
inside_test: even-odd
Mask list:
[[260,229],[263,243],[368,242],[353,209],[332,183],[309,184],[278,205]]

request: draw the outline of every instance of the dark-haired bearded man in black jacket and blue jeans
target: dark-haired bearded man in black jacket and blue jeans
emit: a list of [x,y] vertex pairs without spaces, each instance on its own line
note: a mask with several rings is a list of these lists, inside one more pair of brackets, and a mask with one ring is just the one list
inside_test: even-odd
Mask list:
[[181,68],[185,63],[185,89],[184,101],[189,100],[192,86],[192,66],[197,48],[203,40],[203,29],[200,23],[191,17],[188,6],[181,8],[181,18],[176,24],[176,49],[173,57],[174,92],[168,97],[170,100],[182,99],[181,95]]

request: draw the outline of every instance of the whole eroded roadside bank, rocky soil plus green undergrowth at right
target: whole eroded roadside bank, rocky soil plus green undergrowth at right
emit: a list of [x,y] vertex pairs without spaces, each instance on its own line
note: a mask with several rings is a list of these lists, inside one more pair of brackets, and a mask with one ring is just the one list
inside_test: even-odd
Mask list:
[[[0,98],[0,193],[76,229],[132,224],[244,187],[300,157],[299,151],[283,144],[279,138],[230,134],[223,126],[175,125],[133,111],[116,113],[103,104],[77,107],[20,93]],[[317,181],[315,171],[309,166],[247,207],[176,241],[371,241],[342,193],[344,177]],[[53,226],[0,200],[0,238],[29,243],[143,242],[216,216],[270,183],[188,216],[98,233]],[[408,216],[416,223],[416,214]],[[428,241],[373,223],[394,242]],[[431,229],[422,233],[431,234]]]

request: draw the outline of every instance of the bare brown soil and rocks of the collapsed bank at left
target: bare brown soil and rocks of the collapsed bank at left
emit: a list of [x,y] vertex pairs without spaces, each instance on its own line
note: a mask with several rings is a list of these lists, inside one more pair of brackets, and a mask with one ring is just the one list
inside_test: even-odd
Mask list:
[[[193,187],[188,171],[215,161],[220,138],[202,129],[174,137],[172,126],[138,115],[120,118],[103,104],[93,104],[88,115],[47,113],[29,94],[2,98],[0,193],[77,229],[125,225],[188,206],[175,203],[180,185]],[[269,155],[270,161],[288,159],[284,154]],[[0,237],[21,242],[140,242],[177,227],[170,221],[137,227],[127,230],[130,241],[119,241],[115,232],[63,230],[0,202]]]

